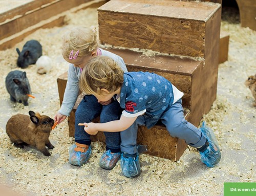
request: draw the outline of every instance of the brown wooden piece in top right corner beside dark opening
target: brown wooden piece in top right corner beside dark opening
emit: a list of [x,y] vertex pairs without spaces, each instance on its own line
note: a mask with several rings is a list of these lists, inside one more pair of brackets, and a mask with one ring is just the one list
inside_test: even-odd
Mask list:
[[236,0],[240,12],[241,27],[249,27],[256,31],[256,2],[255,0]]

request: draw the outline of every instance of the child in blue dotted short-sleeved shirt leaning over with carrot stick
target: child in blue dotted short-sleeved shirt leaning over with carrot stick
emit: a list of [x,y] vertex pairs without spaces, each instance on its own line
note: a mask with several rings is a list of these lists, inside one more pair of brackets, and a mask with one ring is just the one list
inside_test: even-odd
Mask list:
[[124,73],[114,60],[99,56],[92,58],[83,69],[79,86],[99,101],[115,97],[124,109],[119,120],[84,123],[84,130],[90,135],[120,132],[120,164],[124,176],[134,178],[141,171],[136,144],[138,126],[151,128],[159,120],[172,137],[184,139],[188,145],[196,147],[206,166],[214,167],[220,161],[214,133],[204,124],[197,128],[185,120],[183,93],[164,77],[149,72]]

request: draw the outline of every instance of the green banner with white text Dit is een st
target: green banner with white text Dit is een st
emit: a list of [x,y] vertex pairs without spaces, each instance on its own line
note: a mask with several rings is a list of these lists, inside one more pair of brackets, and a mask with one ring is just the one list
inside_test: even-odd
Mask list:
[[224,182],[224,196],[255,196],[255,182]]

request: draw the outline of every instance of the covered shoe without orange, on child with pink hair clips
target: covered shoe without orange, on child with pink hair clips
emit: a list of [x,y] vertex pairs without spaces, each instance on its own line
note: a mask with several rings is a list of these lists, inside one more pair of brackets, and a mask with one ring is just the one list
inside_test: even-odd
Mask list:
[[110,150],[105,151],[99,160],[99,166],[103,169],[113,169],[120,158],[121,153],[111,153]]

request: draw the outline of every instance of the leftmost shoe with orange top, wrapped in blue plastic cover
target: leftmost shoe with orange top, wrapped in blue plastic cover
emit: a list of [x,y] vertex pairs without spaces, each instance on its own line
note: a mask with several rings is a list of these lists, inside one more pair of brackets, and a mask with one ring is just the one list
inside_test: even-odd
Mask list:
[[89,160],[91,153],[91,146],[76,142],[69,149],[69,163],[71,165],[81,166]]

